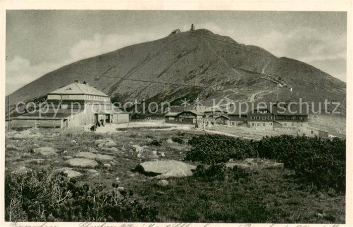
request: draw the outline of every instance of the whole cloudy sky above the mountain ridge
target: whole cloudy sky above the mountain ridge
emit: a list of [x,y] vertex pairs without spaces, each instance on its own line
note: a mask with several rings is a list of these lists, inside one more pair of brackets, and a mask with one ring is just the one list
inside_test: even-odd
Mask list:
[[346,12],[7,10],[6,95],[67,64],[205,28],[346,81]]

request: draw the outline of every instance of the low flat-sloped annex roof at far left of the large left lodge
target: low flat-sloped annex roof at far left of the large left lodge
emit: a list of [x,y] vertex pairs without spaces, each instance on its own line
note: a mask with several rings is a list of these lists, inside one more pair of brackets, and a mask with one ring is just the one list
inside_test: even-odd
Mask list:
[[52,108],[36,110],[35,112],[28,112],[22,116],[19,116],[14,119],[30,119],[30,118],[52,118],[52,119],[61,119],[67,118],[76,113],[82,112],[83,109],[57,109],[56,111]]

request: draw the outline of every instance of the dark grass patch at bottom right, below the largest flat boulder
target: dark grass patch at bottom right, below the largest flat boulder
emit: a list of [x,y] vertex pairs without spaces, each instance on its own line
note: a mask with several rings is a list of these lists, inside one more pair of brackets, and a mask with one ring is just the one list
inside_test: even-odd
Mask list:
[[157,207],[166,222],[344,222],[344,196],[315,192],[294,183],[291,174],[264,169],[244,182],[172,179],[165,187],[156,182],[137,187],[137,193]]

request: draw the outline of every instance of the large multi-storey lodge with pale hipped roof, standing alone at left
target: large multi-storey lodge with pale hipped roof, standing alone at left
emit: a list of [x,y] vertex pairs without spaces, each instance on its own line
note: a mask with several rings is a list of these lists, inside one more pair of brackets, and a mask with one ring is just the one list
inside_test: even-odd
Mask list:
[[129,114],[115,107],[110,97],[86,82],[69,84],[47,94],[44,105],[11,120],[12,128],[69,128],[129,122]]

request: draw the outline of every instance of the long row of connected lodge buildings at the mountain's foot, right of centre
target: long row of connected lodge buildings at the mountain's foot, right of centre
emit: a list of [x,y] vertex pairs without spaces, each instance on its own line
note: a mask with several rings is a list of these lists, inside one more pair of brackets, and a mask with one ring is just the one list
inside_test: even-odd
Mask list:
[[[213,108],[203,107],[204,111],[191,113],[190,110],[182,112],[169,112],[165,115],[166,123],[178,124],[198,124],[199,126],[209,125],[228,125],[242,126],[257,130],[274,130],[279,132],[293,132],[306,135],[317,135],[319,137],[328,137],[324,130],[309,127],[308,110],[290,108],[287,105],[277,106],[272,103],[248,103],[236,108],[225,110],[214,110]],[[211,111],[212,110],[212,111]],[[197,115],[196,115],[197,113]],[[189,114],[193,121],[181,120],[181,117]]]

